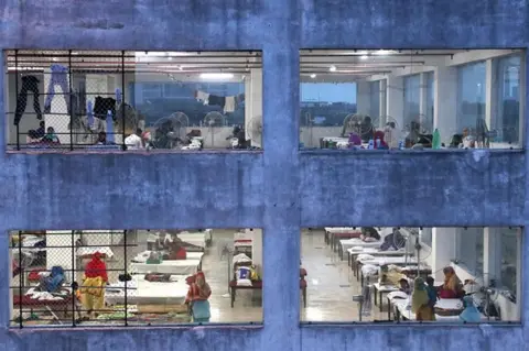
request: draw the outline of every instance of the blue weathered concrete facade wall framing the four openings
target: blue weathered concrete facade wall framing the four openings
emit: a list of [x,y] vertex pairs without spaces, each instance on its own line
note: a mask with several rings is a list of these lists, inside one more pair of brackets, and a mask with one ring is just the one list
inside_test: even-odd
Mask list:
[[[301,227],[525,226],[529,218],[523,152],[299,153],[298,50],[527,47],[528,10],[525,0],[0,2],[0,48],[262,50],[266,150],[144,156],[2,149],[0,252],[12,228],[250,226],[264,228],[264,272],[282,273],[267,275],[262,328],[11,331],[3,254],[0,350],[528,350],[528,284],[522,326],[446,328],[300,327],[296,286]],[[0,118],[4,125],[2,100]],[[527,257],[529,241],[522,251]]]

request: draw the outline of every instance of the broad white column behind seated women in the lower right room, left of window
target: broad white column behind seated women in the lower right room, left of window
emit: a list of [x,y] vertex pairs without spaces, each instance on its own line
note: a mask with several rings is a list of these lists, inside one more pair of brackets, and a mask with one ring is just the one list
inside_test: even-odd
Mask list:
[[435,281],[443,281],[443,268],[455,259],[456,228],[432,229],[432,275]]

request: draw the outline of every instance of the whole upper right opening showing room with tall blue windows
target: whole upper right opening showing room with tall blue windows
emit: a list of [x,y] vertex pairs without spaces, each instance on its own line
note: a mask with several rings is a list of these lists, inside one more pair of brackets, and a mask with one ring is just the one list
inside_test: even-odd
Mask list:
[[[521,57],[508,48],[302,50],[300,147],[520,149]],[[338,101],[352,105],[339,118]],[[309,129],[315,117],[332,123]]]

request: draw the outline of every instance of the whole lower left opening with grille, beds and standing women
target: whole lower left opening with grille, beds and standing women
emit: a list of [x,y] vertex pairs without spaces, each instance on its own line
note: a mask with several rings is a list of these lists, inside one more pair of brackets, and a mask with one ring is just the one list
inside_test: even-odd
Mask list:
[[12,327],[262,321],[260,229],[17,231],[10,242]]

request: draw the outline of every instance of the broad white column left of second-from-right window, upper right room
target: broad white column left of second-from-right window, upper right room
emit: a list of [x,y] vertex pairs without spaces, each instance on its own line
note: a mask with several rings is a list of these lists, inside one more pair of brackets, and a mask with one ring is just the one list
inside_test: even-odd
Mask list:
[[433,84],[433,128],[439,129],[441,142],[446,145],[457,130],[457,68],[440,66]]

